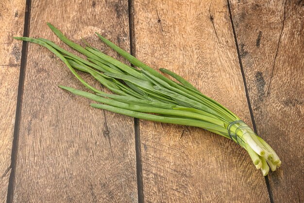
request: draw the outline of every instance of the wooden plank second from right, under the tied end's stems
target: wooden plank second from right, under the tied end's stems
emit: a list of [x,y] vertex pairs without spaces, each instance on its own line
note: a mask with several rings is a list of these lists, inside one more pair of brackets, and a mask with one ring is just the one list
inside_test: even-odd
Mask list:
[[[134,1],[135,54],[252,125],[225,0]],[[145,202],[269,202],[247,152],[203,129],[140,122]]]

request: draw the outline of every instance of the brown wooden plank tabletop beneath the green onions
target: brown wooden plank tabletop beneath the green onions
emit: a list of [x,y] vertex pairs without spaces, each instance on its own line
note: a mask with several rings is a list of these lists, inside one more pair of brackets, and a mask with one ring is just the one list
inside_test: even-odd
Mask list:
[[[12,38],[63,45],[46,22],[181,74],[253,127],[281,168],[264,178],[228,139],[60,90],[83,87],[51,52]],[[0,33],[0,202],[304,201],[303,0],[2,0]]]

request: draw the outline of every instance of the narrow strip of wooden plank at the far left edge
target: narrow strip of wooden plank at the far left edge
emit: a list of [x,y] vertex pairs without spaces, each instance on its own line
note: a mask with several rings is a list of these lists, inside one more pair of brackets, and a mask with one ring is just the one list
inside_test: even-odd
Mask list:
[[0,203],[6,201],[11,174],[19,68],[22,42],[13,36],[23,33],[24,0],[0,1]]

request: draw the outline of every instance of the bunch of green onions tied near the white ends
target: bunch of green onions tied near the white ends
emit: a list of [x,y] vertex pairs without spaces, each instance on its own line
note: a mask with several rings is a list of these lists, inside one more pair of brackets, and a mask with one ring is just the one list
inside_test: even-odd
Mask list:
[[[59,87],[98,102],[91,104],[91,107],[139,119],[209,130],[233,140],[244,148],[254,166],[261,169],[264,176],[269,173],[269,169],[275,171],[281,165],[275,151],[247,124],[233,112],[205,96],[178,74],[162,68],[160,69],[162,73],[168,74],[178,82],[165,77],[98,33],[96,34],[101,41],[137,68],[124,64],[89,45],[84,48],[70,41],[50,23],[48,26],[57,37],[85,55],[86,59],[69,53],[48,39],[14,38],[39,44],[57,55],[91,92]],[[75,69],[91,74],[101,85],[115,94],[107,94],[90,86]]]

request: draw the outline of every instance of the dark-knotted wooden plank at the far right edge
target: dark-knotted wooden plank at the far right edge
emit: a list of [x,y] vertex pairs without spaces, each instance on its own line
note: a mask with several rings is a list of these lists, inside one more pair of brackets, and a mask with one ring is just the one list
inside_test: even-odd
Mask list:
[[304,200],[304,1],[231,2],[258,134],[282,166],[270,173],[275,203]]

